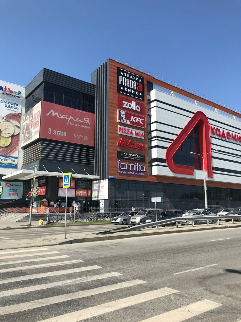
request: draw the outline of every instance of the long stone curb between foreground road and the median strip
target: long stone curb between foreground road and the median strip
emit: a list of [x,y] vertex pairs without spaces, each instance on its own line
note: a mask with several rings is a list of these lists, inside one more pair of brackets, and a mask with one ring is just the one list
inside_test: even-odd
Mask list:
[[[45,245],[32,245],[32,246],[22,246],[22,247],[13,247],[14,249],[19,248],[32,248],[32,247],[47,247],[47,246],[58,246],[58,245],[67,245],[67,244],[76,244],[76,243],[84,243],[84,242],[100,242],[100,241],[109,241],[109,240],[117,240],[117,239],[125,239],[125,238],[132,238],[132,237],[143,237],[143,236],[155,236],[155,235],[165,235],[165,234],[174,234],[174,233],[183,233],[183,232],[201,232],[206,230],[215,230],[215,229],[228,229],[228,228],[240,228],[241,224],[239,225],[231,225],[231,226],[212,226],[212,227],[201,227],[201,228],[190,228],[188,230],[176,230],[176,231],[158,231],[158,232],[140,232],[140,233],[133,233],[132,235],[124,234],[124,235],[108,235],[108,236],[98,236],[98,237],[87,237],[87,238],[74,238],[70,240],[66,240],[63,242],[56,242],[52,244],[45,244]],[[12,248],[12,249],[13,249]],[[1,250],[9,250],[11,248],[3,248]]]

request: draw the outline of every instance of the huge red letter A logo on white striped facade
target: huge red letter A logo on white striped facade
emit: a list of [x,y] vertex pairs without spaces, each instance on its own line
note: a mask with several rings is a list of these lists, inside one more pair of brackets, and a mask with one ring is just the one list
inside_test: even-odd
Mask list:
[[[205,156],[206,153],[209,153],[204,157],[205,170],[207,171],[207,176],[209,178],[213,177],[212,174],[212,156],[211,156],[211,142],[210,142],[210,128],[209,121],[206,115],[197,111],[194,113],[193,117],[185,125],[182,131],[174,139],[172,144],[166,150],[166,164],[169,169],[174,173],[179,173],[183,175],[194,175],[193,166],[184,166],[181,164],[176,164],[173,161],[173,156],[177,152],[178,148],[182,145],[185,138],[190,134],[195,125],[198,124],[199,129],[199,142],[200,142],[200,154]],[[191,156],[191,155],[190,155]],[[203,170],[202,162],[201,169]]]

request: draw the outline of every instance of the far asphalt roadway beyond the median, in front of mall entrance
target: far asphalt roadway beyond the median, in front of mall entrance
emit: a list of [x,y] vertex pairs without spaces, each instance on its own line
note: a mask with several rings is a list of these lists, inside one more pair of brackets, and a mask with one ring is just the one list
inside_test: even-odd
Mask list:
[[[125,227],[125,226],[121,226]],[[113,224],[103,224],[103,225],[83,225],[83,226],[67,226],[66,231],[68,233],[80,233],[80,232],[104,232],[117,228]],[[22,239],[31,239],[44,236],[54,236],[58,234],[64,234],[64,226],[61,227],[39,227],[39,228],[24,228],[24,229],[6,229],[0,231],[0,241],[10,241],[10,240],[22,240]]]

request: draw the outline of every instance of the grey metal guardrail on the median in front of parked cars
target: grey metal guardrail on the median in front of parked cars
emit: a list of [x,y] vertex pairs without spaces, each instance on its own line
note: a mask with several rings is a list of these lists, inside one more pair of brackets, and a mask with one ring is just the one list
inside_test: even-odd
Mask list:
[[163,219],[163,220],[159,220],[156,222],[152,222],[152,223],[143,223],[143,224],[139,224],[139,225],[135,225],[135,226],[131,226],[131,227],[121,227],[121,228],[116,228],[116,229],[112,229],[111,232],[134,232],[137,230],[141,230],[141,229],[146,229],[146,228],[152,228],[152,227],[159,227],[162,225],[167,225],[169,223],[176,223],[176,228],[178,228],[178,224],[184,221],[192,221],[192,226],[194,227],[195,222],[203,222],[203,221],[207,221],[207,224],[209,226],[210,221],[217,221],[218,224],[220,224],[220,220],[227,220],[230,219],[232,220],[232,223],[234,223],[234,220],[238,220],[241,221],[241,216],[184,216],[184,217],[175,217],[175,218],[170,218],[170,219]]

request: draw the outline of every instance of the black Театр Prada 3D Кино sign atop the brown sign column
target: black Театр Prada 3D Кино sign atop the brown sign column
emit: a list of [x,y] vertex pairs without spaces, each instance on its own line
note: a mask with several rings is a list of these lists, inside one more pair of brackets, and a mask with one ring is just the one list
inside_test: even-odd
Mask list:
[[117,91],[144,100],[144,77],[117,67]]

